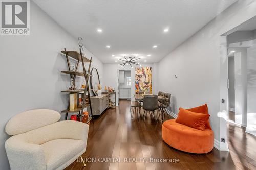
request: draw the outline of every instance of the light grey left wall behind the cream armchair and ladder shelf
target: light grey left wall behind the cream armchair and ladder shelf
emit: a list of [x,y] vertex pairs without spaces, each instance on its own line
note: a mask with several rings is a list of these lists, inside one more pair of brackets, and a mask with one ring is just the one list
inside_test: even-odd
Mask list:
[[[0,169],[9,169],[4,143],[8,120],[25,110],[47,108],[61,111],[67,108],[67,95],[62,89],[69,86],[69,76],[60,74],[67,70],[63,48],[77,49],[77,38],[57,25],[45,12],[30,1],[30,36],[1,36],[0,83]],[[93,57],[93,66],[102,77],[103,64]],[[63,117],[63,116],[62,116]]]

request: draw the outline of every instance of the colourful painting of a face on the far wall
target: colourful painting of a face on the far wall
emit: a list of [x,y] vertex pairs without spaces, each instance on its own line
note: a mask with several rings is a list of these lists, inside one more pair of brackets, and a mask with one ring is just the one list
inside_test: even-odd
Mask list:
[[135,92],[152,94],[152,68],[135,68]]

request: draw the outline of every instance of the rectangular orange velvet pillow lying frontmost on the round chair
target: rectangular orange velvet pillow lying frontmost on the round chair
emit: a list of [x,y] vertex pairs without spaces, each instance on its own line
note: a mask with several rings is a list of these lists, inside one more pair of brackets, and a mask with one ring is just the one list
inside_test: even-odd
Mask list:
[[209,117],[209,114],[194,113],[186,109],[180,108],[180,112],[178,114],[176,122],[189,126],[191,128],[204,131],[205,124],[208,121]]

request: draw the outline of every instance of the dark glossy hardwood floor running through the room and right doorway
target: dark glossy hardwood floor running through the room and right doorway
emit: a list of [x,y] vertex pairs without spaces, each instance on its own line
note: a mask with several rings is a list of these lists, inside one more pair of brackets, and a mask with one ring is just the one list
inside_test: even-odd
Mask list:
[[[116,110],[105,111],[89,128],[82,157],[96,158],[96,162],[87,159],[83,167],[74,161],[66,169],[256,169],[256,138],[242,128],[228,125],[229,152],[214,148],[207,154],[190,154],[169,147],[161,138],[161,125],[149,116],[145,123],[132,120],[130,102],[120,101]],[[101,158],[119,157],[122,162],[101,163]],[[124,158],[144,158],[145,162],[126,163]],[[150,163],[150,158],[179,159],[179,163]]]

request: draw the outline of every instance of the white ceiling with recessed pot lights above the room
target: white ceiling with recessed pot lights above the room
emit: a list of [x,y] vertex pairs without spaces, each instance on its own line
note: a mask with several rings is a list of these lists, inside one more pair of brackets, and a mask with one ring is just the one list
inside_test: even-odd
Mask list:
[[139,62],[158,62],[236,1],[34,0],[74,37],[81,36],[103,63],[114,63],[121,54],[144,56]]

